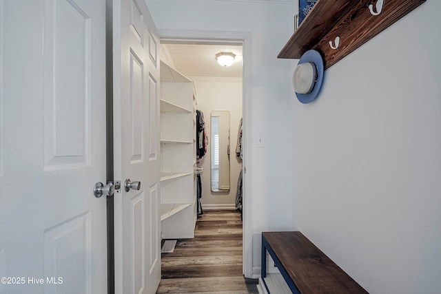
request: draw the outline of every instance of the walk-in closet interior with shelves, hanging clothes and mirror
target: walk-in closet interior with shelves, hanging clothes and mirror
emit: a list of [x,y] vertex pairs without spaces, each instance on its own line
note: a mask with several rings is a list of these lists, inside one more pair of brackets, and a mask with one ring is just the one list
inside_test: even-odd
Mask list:
[[[231,66],[218,63],[221,53],[234,57]],[[214,247],[205,251],[222,258],[225,246],[219,247],[216,240],[225,238],[223,233],[233,226],[240,255],[230,266],[238,266],[242,276],[242,67],[238,43],[161,41],[161,227],[163,260],[169,260],[169,266],[167,258],[181,254],[172,253],[174,246],[191,246],[207,238],[214,238],[208,241]],[[223,219],[208,237],[201,226],[216,222],[218,213]],[[183,266],[191,272],[196,265]],[[163,272],[163,278],[170,276]]]

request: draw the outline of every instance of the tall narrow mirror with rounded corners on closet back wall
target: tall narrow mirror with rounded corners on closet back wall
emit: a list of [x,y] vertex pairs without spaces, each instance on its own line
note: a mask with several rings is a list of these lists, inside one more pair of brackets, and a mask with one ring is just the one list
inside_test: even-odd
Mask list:
[[212,191],[229,191],[229,111],[213,110],[210,118]]

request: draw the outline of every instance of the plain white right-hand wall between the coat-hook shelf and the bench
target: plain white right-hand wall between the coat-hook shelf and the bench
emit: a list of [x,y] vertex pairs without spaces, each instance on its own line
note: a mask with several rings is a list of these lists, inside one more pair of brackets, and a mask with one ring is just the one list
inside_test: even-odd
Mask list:
[[294,228],[369,293],[440,293],[440,11],[423,3],[294,103]]

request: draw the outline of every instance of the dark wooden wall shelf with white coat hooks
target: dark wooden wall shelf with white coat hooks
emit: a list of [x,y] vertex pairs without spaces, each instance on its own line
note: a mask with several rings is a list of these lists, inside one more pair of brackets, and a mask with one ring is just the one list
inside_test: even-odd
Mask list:
[[[319,0],[285,47],[280,59],[300,59],[307,50],[320,52],[325,70],[404,17],[426,0]],[[371,8],[369,8],[369,6]],[[371,14],[371,9],[374,13]],[[339,38],[338,48],[336,38]]]

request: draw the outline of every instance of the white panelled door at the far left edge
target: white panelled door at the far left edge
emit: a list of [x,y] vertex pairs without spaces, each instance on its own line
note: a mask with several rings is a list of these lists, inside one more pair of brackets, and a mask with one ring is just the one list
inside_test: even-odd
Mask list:
[[0,0],[2,294],[107,293],[104,52],[104,0]]

